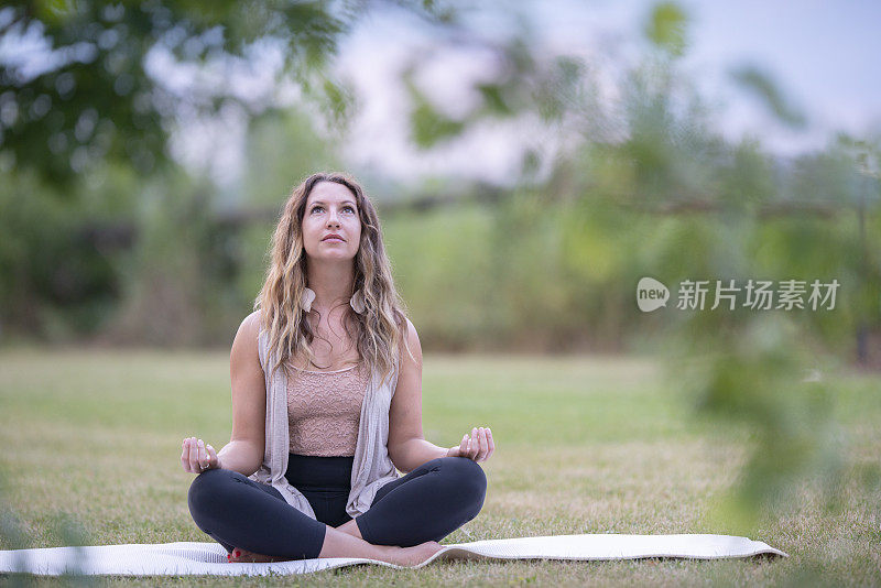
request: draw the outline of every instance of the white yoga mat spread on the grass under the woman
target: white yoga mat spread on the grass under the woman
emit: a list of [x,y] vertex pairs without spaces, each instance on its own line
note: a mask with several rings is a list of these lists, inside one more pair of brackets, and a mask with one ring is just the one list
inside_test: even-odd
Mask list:
[[[639,559],[685,557],[718,559],[773,554],[788,557],[761,541],[730,535],[555,535],[476,541],[445,545],[422,567],[437,559]],[[153,545],[99,545],[47,547],[0,552],[0,573],[30,571],[57,576],[65,573],[119,576],[264,576],[308,574],[376,559],[349,557],[301,559],[271,564],[230,564],[217,543],[161,543]]]

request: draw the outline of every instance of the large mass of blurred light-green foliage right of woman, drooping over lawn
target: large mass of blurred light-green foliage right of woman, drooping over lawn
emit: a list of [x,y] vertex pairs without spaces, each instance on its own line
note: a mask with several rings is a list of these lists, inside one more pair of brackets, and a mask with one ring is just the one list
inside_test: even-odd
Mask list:
[[[650,37],[681,55],[685,32],[673,23],[684,17],[665,4],[653,18]],[[858,330],[881,326],[881,241],[871,230],[881,219],[879,186],[863,170],[873,168],[881,143],[840,141],[775,161],[754,142],[718,138],[700,100],[681,94],[674,62],[649,61],[627,79],[624,141],[596,141],[588,134],[596,124],[585,123],[580,151],[558,162],[546,183],[513,190],[492,210],[487,247],[498,272],[468,282],[478,295],[491,282],[485,333],[501,334],[508,346],[526,340],[544,349],[574,346],[585,333],[595,341],[622,334],[639,345],[655,339],[696,411],[719,426],[739,423],[750,435],[738,483],[715,510],[716,527],[746,533],[785,516],[805,484],[820,484],[826,503],[835,504],[844,447],[835,392],[823,374],[830,358],[853,357]],[[741,80],[782,122],[803,122],[766,76],[751,72]],[[486,95],[490,104],[510,104],[500,98],[502,87]],[[547,111],[592,112],[589,95],[572,97],[557,102],[563,110]],[[675,106],[683,100],[685,110]],[[668,285],[837,280],[840,288],[834,311],[708,305],[687,313],[670,305],[645,316],[633,303],[643,275]],[[443,315],[436,304],[443,301],[433,314]]]

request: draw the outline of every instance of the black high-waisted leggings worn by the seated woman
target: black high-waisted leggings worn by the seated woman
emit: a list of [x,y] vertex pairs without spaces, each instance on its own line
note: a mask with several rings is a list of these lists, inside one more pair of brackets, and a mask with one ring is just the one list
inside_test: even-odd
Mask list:
[[[351,520],[346,513],[351,465],[351,457],[290,455],[285,478],[306,497],[317,521],[287,504],[271,486],[227,469],[209,469],[193,480],[189,513],[228,552],[239,547],[289,559],[315,558],[326,525]],[[483,470],[471,459],[432,459],[380,488],[356,523],[374,545],[440,541],[477,516],[486,490]]]

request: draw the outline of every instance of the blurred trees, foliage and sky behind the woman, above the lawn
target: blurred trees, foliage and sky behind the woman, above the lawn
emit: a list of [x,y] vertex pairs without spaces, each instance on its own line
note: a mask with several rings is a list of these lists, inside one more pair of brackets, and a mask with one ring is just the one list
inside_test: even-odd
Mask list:
[[[748,516],[798,476],[840,477],[825,374],[881,368],[880,18],[4,2],[0,341],[228,349],[286,195],[342,170],[379,208],[426,356],[657,358],[696,411],[753,431],[726,507]],[[666,307],[639,309],[643,276]],[[676,307],[685,280],[840,285],[834,308],[710,311],[710,290],[700,311]]]

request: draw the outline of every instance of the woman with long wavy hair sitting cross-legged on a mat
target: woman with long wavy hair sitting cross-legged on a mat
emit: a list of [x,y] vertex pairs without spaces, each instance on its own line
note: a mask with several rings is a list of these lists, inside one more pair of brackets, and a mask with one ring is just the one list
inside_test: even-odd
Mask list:
[[230,442],[183,443],[198,527],[230,562],[431,557],[480,511],[494,443],[489,427],[423,438],[418,336],[352,178],[293,190],[254,307],[230,355]]

